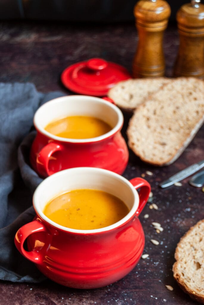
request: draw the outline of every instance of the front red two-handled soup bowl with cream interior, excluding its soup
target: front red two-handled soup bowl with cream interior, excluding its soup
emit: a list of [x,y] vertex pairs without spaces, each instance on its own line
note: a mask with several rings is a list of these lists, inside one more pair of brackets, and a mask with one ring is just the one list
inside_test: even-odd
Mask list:
[[[112,225],[92,230],[66,228],[44,215],[46,203],[76,189],[108,192],[126,203],[129,213]],[[109,285],[128,274],[141,257],[145,237],[138,216],[149,192],[150,185],[144,179],[128,181],[109,170],[77,167],[60,171],[34,192],[36,217],[17,231],[16,247],[45,276],[61,285],[78,289]],[[23,246],[26,239],[28,251]]]

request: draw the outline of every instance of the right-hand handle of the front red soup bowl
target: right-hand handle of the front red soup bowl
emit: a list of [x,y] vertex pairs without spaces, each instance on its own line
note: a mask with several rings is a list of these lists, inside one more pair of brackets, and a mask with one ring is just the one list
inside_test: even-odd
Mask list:
[[151,191],[151,186],[149,182],[147,182],[145,179],[142,179],[140,177],[133,178],[130,180],[130,182],[135,189],[141,188],[139,192],[139,205],[136,211],[136,216],[139,216],[145,204],[147,203],[147,200],[149,198],[149,193]]

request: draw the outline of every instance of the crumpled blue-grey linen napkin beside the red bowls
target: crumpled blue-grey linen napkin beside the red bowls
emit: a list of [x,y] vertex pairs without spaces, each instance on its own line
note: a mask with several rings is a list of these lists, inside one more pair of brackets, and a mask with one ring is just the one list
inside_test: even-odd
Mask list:
[[33,116],[62,92],[40,93],[31,83],[0,83],[0,279],[41,282],[45,277],[16,249],[14,236],[32,221],[32,195],[42,179],[29,164]]

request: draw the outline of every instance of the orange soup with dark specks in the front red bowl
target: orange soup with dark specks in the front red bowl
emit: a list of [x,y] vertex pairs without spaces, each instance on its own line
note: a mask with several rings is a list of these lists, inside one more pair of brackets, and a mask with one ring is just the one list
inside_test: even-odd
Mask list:
[[55,223],[79,230],[107,227],[128,212],[126,204],[116,196],[92,189],[64,193],[49,201],[43,211]]

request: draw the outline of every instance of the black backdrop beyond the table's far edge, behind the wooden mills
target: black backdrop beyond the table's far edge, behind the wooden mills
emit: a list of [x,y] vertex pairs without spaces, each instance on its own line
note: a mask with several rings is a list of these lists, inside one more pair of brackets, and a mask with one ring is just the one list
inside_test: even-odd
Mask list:
[[[187,0],[167,1],[170,21]],[[2,0],[0,19],[61,20],[71,22],[133,21],[136,0]]]

